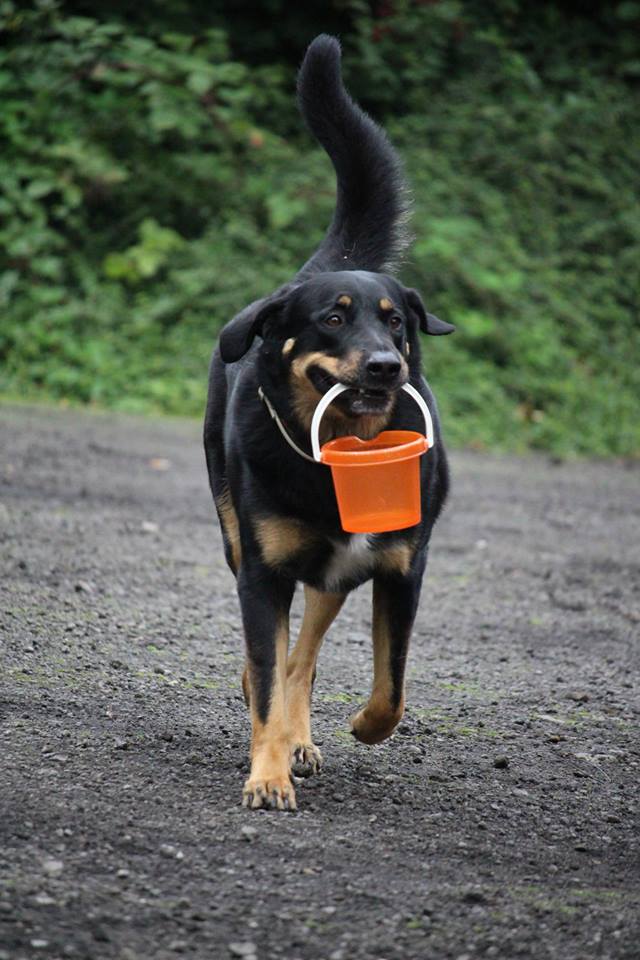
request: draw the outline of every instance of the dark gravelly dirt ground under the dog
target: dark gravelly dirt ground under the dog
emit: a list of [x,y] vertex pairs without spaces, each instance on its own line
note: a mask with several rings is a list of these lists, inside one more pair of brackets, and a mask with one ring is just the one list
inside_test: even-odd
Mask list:
[[637,960],[638,465],[454,455],[404,722],[348,733],[364,587],[253,813],[199,432],[0,409],[0,960]]

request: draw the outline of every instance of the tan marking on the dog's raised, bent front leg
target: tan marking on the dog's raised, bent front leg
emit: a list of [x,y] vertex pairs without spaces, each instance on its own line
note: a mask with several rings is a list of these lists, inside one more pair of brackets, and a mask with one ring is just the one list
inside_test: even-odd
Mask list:
[[404,713],[404,689],[394,704],[391,676],[391,631],[386,592],[373,581],[373,687],[369,701],[351,719],[354,736],[362,743],[381,743],[390,737]]

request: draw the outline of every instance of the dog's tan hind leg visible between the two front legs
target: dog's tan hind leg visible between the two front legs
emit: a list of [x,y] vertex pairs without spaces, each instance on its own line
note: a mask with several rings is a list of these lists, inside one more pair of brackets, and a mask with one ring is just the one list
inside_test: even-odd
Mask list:
[[304,588],[300,636],[287,663],[287,712],[293,772],[309,777],[320,770],[322,755],[311,740],[311,690],[324,635],[344,603],[343,593]]

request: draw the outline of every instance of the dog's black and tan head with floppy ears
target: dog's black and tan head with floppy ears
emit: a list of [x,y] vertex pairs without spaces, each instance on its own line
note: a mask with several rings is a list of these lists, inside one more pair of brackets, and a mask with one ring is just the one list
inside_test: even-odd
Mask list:
[[392,277],[345,270],[317,274],[243,310],[223,329],[220,355],[233,363],[261,336],[260,362],[272,383],[287,385],[305,428],[320,396],[342,383],[349,389],[332,405],[333,416],[373,436],[410,368],[419,370],[418,330],[438,336],[453,329]]

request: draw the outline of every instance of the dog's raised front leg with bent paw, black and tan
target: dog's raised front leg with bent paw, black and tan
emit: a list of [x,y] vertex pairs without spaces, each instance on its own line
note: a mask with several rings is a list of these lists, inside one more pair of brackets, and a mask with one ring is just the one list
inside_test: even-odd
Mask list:
[[390,737],[404,712],[404,673],[411,628],[420,599],[424,559],[404,576],[373,581],[373,687],[369,702],[351,719],[362,743]]

